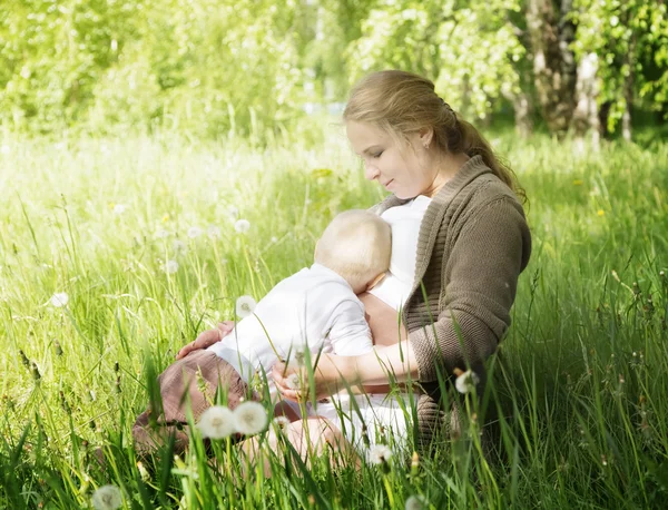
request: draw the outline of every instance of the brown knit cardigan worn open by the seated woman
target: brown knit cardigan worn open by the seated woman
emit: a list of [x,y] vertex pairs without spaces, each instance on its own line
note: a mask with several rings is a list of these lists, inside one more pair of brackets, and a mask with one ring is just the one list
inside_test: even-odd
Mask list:
[[[387,197],[377,214],[406,200]],[[418,241],[413,290],[403,308],[418,359],[419,441],[443,426],[439,376],[483,362],[510,326],[518,276],[531,254],[522,206],[481,156],[472,157],[432,198]],[[424,300],[426,295],[426,301]]]

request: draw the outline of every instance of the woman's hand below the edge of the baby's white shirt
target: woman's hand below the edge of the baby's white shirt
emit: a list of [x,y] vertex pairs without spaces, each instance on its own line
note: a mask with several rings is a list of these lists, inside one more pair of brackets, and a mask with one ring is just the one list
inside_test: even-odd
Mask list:
[[[354,384],[350,380],[354,359],[355,356],[335,356],[333,354],[322,354],[320,356],[317,366],[313,371],[315,384],[313,390],[316,400],[343,390],[345,385],[341,381],[344,379],[347,380],[350,385]],[[297,366],[292,363],[286,365],[283,362],[277,362],[272,369],[272,376],[276,389],[284,399],[294,402],[308,401],[312,389],[308,388],[308,370],[305,366]]]

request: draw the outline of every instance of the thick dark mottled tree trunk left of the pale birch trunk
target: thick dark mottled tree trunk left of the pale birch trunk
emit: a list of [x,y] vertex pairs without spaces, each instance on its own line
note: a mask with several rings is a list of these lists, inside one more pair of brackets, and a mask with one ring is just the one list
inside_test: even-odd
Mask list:
[[533,52],[533,75],[542,116],[552,133],[568,130],[574,109],[577,67],[571,42],[572,0],[529,0],[527,26]]

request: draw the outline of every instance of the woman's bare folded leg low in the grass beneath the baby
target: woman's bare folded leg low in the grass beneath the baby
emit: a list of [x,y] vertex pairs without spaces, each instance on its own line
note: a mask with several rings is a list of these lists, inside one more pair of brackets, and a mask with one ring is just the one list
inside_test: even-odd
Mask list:
[[[360,458],[352,444],[343,437],[341,430],[330,420],[314,416],[292,422],[281,432],[271,430],[263,443],[257,438],[243,441],[240,449],[246,454],[246,467],[255,467],[258,462],[262,462],[264,475],[271,477],[272,469],[268,455],[292,455],[286,444],[284,444],[285,442],[295,449],[296,454],[307,467],[311,465],[311,459],[324,453],[332,453],[336,463],[348,464],[352,462],[356,467],[360,465]],[[263,447],[267,450],[263,451]],[[281,459],[281,463],[283,463],[283,459]]]

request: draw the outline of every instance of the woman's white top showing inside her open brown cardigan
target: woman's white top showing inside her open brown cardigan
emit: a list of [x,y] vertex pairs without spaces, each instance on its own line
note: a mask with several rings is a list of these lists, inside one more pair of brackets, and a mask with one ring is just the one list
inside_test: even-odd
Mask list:
[[431,198],[419,195],[411,202],[390,207],[381,214],[392,228],[392,256],[387,275],[370,293],[397,312],[413,288],[420,225],[430,204]]

